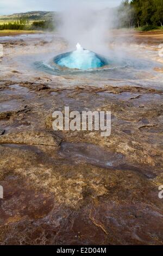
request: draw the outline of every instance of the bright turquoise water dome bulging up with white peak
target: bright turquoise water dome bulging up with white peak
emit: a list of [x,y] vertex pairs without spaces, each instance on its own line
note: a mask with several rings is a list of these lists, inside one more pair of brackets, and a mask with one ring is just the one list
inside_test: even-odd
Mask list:
[[101,68],[108,64],[105,58],[85,50],[79,43],[76,51],[59,54],[54,62],[62,67],[82,70]]

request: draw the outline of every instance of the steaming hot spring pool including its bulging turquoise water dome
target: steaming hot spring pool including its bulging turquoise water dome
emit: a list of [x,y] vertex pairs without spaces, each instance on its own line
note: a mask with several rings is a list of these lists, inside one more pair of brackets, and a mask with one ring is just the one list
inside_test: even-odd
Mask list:
[[[55,56],[55,57],[53,57]],[[119,54],[114,50],[108,50],[105,56],[85,50],[77,44],[77,50],[55,55],[42,54],[42,60],[34,62],[34,68],[51,75],[77,76],[91,78],[94,81],[99,79],[111,80],[144,80],[145,74],[148,77],[155,75],[154,68],[162,66],[155,61],[131,54]],[[39,55],[40,59],[40,55]],[[158,75],[158,74],[157,74]]]

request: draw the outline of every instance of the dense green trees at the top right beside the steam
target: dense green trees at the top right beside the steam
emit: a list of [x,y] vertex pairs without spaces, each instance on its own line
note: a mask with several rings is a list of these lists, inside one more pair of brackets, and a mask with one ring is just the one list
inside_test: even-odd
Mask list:
[[163,0],[124,0],[118,15],[121,27],[163,27]]

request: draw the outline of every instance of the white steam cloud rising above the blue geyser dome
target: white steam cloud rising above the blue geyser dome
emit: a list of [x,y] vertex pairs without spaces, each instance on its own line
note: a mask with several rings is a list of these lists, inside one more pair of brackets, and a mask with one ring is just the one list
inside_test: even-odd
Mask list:
[[67,1],[66,11],[61,13],[58,31],[68,41],[72,50],[79,42],[91,51],[106,51],[109,29],[114,25],[114,15],[112,9],[102,8],[93,10],[93,6],[91,8],[86,3]]

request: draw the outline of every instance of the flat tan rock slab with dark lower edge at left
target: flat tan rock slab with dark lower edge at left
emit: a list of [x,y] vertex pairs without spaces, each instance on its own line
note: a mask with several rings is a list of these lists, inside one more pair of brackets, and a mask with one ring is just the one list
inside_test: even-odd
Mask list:
[[58,148],[61,139],[45,131],[9,133],[0,137],[1,144],[49,145]]

